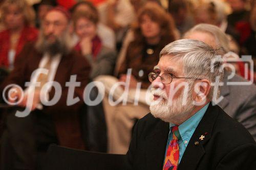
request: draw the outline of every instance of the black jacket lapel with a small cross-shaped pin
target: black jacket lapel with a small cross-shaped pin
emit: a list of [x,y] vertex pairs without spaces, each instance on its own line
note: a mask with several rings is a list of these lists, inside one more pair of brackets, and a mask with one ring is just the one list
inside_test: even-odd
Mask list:
[[210,139],[212,128],[216,122],[218,115],[218,112],[215,109],[216,107],[218,106],[209,105],[205,115],[189,140],[187,148],[180,161],[178,167],[179,170],[197,169],[200,159],[205,154],[204,144]]

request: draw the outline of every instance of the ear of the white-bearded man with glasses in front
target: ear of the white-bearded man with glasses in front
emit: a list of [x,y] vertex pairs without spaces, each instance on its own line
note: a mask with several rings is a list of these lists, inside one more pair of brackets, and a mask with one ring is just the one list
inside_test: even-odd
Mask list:
[[196,82],[195,84],[195,95],[194,100],[197,103],[201,103],[206,100],[209,92],[210,92],[210,81],[207,79],[202,79]]

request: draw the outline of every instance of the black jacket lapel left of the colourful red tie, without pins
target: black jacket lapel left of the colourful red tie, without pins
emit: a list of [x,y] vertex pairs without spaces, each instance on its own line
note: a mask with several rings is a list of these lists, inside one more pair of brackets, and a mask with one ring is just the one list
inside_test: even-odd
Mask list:
[[155,132],[146,137],[146,169],[162,169],[169,124],[160,122]]

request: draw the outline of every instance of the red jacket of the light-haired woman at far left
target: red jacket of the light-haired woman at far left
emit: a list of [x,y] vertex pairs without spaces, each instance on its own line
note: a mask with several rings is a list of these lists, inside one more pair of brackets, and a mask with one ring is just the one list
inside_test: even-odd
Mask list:
[[[38,30],[33,27],[25,27],[19,37],[16,49],[15,59],[22,51],[23,46],[28,41],[35,41],[37,39]],[[4,30],[0,33],[0,67],[9,66],[8,52],[10,50],[10,31]]]

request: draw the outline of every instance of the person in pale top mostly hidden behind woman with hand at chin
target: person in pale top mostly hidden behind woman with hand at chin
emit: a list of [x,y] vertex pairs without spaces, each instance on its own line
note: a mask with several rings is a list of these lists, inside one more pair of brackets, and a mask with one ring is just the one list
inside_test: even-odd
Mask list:
[[[97,8],[89,1],[81,1],[74,5],[71,9],[71,12],[73,14],[83,11],[83,12],[91,12],[94,15],[96,15],[97,18],[99,18],[98,10]],[[100,37],[102,44],[106,47],[111,48],[112,50],[116,49],[116,38],[115,38],[115,32],[109,28],[108,26],[104,25],[99,18],[99,21],[97,22],[97,34]],[[78,41],[77,37],[74,37],[74,43],[76,44]]]

